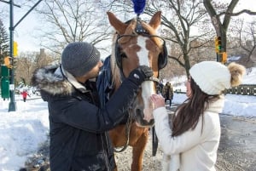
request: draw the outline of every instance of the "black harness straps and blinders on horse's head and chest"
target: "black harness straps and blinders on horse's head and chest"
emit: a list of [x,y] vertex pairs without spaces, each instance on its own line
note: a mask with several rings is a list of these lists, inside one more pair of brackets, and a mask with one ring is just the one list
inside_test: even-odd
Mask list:
[[[129,24],[131,22],[131,20],[127,21],[126,24]],[[141,24],[141,20],[139,18],[137,18],[137,26],[135,31],[132,34],[124,34],[124,35],[117,35],[117,39],[115,42],[115,60],[116,60],[116,64],[119,67],[119,71],[121,73],[121,80],[125,79],[125,75],[123,73],[123,66],[122,66],[122,58],[127,58],[125,53],[120,53],[120,48],[119,48],[119,39],[122,37],[138,37],[140,35],[144,36],[144,37],[158,37],[163,41],[163,51],[159,54],[158,57],[158,68],[159,70],[164,68],[167,65],[167,49],[166,49],[166,41],[162,38],[159,37],[157,35],[149,35],[148,31],[146,31],[142,24]],[[157,77],[150,77],[148,79],[148,81],[153,81],[154,83],[159,83],[159,79]],[[116,149],[114,149],[115,152],[122,152],[125,151],[125,149],[127,148],[127,146],[129,145],[129,139],[130,139],[130,131],[131,131],[131,124],[133,123],[133,117],[131,115],[130,112],[131,109],[129,109],[128,113],[129,113],[129,117],[127,119],[127,122],[125,124],[125,136],[126,136],[126,143],[125,145],[118,151]]]

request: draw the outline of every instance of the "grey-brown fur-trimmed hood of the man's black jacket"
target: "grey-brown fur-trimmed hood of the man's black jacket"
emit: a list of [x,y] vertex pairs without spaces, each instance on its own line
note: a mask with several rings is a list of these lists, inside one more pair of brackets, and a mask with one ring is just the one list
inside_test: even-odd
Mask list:
[[32,86],[50,95],[72,94],[73,85],[61,73],[59,66],[44,66],[32,75]]

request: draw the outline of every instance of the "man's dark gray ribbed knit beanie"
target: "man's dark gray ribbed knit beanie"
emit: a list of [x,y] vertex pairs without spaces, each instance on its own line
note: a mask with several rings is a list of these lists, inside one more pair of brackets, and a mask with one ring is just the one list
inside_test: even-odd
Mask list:
[[61,54],[61,65],[73,77],[80,77],[96,66],[100,56],[100,52],[90,43],[69,43]]

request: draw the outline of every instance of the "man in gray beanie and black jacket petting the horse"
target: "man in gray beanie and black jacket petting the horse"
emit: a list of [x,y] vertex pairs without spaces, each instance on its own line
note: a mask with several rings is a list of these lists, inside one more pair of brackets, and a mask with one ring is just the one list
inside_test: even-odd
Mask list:
[[61,66],[35,71],[32,83],[49,107],[51,171],[113,171],[115,162],[108,130],[124,117],[141,83],[153,75],[148,66],[131,71],[103,109],[95,79],[102,67],[100,53],[90,43],[70,43]]

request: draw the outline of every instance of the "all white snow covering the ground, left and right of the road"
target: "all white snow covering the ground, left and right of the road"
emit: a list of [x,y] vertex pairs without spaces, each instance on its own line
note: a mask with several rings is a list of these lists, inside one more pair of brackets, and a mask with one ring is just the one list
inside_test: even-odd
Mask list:
[[[183,82],[173,78],[172,82]],[[244,84],[256,84],[256,68],[243,79]],[[184,90],[184,86],[178,87]],[[180,104],[185,94],[174,94],[173,103]],[[24,167],[27,157],[37,152],[47,140],[49,120],[47,103],[31,94],[26,102],[16,94],[16,111],[8,111],[9,100],[0,99],[0,170],[17,171]],[[226,94],[224,111],[220,115],[256,117],[256,96]]]

